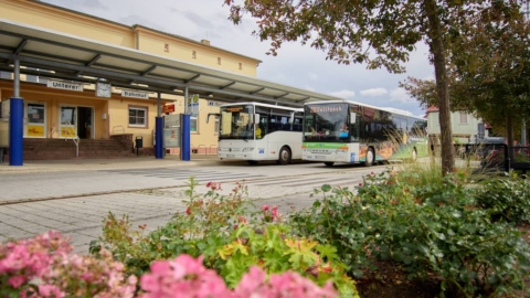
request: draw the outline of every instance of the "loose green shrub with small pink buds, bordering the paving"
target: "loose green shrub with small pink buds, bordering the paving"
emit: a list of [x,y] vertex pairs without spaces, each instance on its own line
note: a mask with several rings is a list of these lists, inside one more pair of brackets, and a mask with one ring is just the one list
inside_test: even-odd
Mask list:
[[142,233],[145,226],[135,231],[126,215],[117,220],[110,213],[105,220],[103,237],[91,243],[91,252],[97,254],[99,247],[106,247],[126,265],[128,273],[137,276],[148,272],[152,260],[180,254],[203,255],[206,267],[219,269],[224,262],[215,257],[218,247],[227,243],[239,219],[251,214],[246,185],[237,183],[227,196],[218,193],[219,183],[206,184],[209,192],[203,196],[195,193],[198,183],[193,178],[188,187],[186,212],[174,214],[166,225],[147,235]]

